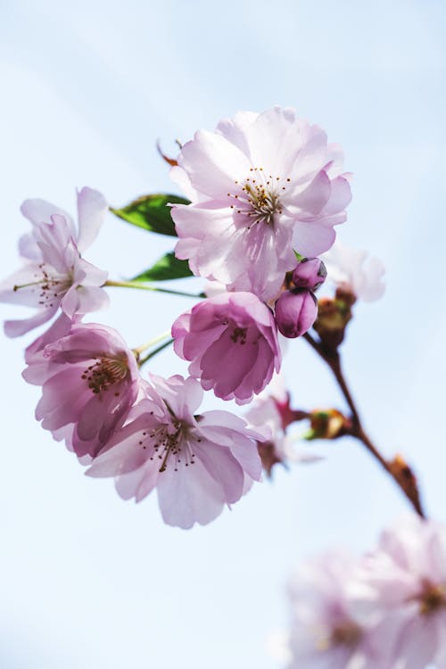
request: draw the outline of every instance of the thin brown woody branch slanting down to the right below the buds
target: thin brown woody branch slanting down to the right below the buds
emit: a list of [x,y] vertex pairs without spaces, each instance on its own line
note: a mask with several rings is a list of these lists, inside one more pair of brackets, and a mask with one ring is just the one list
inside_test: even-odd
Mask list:
[[402,458],[395,458],[393,461],[386,460],[362,426],[359,411],[356,407],[355,401],[351,395],[350,388],[343,376],[343,368],[341,365],[341,356],[335,349],[328,349],[323,343],[317,342],[313,337],[306,333],[303,338],[310,343],[311,348],[318,353],[335,376],[336,382],[339,385],[343,397],[351,410],[351,430],[349,434],[362,442],[368,452],[375,458],[381,467],[385,469],[387,474],[392,476],[395,483],[401,488],[401,491],[409,500],[412,507],[416,510],[418,516],[425,518],[425,512],[419,499],[417,490],[417,483],[415,476],[412,474],[409,467],[405,464]]

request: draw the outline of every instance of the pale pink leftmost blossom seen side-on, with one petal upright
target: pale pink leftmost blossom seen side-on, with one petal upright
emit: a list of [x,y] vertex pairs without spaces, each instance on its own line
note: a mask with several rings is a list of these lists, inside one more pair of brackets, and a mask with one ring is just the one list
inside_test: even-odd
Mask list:
[[0,284],[0,301],[36,312],[30,318],[6,321],[6,335],[29,332],[53,318],[59,307],[73,318],[108,304],[101,288],[107,272],[80,255],[94,241],[106,211],[103,195],[87,187],[78,193],[78,229],[69,214],[50,202],[23,202],[21,212],[33,226],[19,245],[26,264]]

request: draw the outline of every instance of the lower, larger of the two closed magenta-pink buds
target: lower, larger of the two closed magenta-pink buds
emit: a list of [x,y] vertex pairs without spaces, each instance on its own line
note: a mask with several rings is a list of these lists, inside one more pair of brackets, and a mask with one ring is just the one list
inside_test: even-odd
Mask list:
[[282,293],[276,302],[277,327],[285,337],[300,337],[318,316],[318,301],[311,291],[298,289]]

